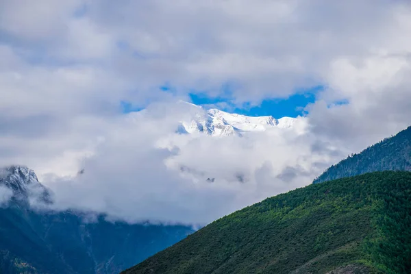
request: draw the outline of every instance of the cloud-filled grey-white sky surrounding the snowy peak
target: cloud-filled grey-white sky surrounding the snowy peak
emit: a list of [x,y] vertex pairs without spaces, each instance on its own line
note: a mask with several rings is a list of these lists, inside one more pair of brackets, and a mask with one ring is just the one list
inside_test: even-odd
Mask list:
[[[61,209],[207,223],[408,127],[410,33],[408,0],[0,0],[0,165]],[[247,113],[316,86],[294,131],[173,133],[196,92]]]

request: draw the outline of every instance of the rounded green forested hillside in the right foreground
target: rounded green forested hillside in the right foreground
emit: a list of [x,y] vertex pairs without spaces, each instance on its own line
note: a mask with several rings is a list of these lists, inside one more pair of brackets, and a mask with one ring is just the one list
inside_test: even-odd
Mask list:
[[266,199],[214,221],[123,274],[410,270],[411,173],[385,171]]

